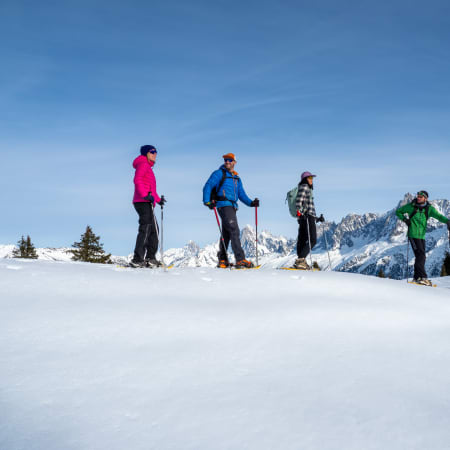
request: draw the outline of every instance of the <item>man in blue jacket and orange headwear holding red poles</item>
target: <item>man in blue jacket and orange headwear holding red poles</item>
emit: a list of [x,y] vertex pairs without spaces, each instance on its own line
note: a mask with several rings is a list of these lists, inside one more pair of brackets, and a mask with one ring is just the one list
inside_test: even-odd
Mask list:
[[[247,206],[258,207],[259,200],[251,200],[244,191],[244,186],[237,172],[234,171],[236,159],[233,153],[223,155],[224,163],[218,170],[215,170],[203,188],[203,203],[209,209],[217,207],[222,219],[222,235],[224,242],[219,243],[219,265],[226,268],[230,265],[227,257],[228,244],[231,241],[234,257],[236,258],[236,268],[251,268],[253,263],[245,259],[240,240],[239,225],[236,211],[238,200]],[[225,244],[225,248],[224,248]]]

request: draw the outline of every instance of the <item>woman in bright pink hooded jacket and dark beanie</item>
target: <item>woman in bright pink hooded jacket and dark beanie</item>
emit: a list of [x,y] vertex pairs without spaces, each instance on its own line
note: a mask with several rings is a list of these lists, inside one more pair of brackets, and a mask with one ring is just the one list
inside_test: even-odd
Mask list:
[[143,145],[141,155],[133,161],[134,175],[133,205],[139,215],[139,231],[136,238],[132,267],[160,267],[156,260],[158,250],[158,224],[154,216],[155,202],[161,207],[164,196],[156,192],[156,178],[153,173],[158,151],[153,145]]

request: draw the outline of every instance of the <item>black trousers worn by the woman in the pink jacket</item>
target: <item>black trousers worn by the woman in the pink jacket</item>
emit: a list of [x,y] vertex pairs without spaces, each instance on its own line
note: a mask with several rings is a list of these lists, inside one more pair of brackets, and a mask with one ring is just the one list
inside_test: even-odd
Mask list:
[[139,214],[139,232],[134,249],[134,261],[155,259],[158,251],[158,230],[155,227],[153,208],[150,203],[134,203],[134,208]]

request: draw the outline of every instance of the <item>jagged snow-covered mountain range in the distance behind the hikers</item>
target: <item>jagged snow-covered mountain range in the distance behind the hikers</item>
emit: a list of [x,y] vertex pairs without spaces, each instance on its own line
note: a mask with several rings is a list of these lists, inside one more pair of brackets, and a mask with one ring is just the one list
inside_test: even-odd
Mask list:
[[[331,267],[342,272],[376,275],[383,269],[386,276],[401,279],[405,277],[407,257],[406,225],[397,220],[395,210],[413,196],[405,197],[384,214],[348,214],[339,223],[325,222],[318,225],[318,242],[312,257],[322,269]],[[443,215],[450,216],[450,202],[436,200],[432,204]],[[287,217],[287,220],[290,220]],[[293,220],[293,219],[292,219]],[[255,259],[255,231],[247,225],[241,231],[241,241],[247,257]],[[448,251],[449,235],[447,227],[435,219],[428,222],[427,270],[430,277],[439,276]],[[296,258],[296,239],[275,236],[269,231],[258,233],[258,258],[260,264],[269,267],[291,265]],[[329,257],[328,259],[328,252]],[[12,257],[13,245],[0,246],[0,257]],[[166,264],[177,267],[212,267],[217,264],[218,242],[199,247],[190,241],[182,248],[172,248],[164,252]],[[69,248],[39,248],[40,259],[68,261]],[[131,255],[113,256],[115,263],[124,263]],[[230,260],[233,256],[230,254]],[[409,276],[413,273],[413,254],[409,249]]]

